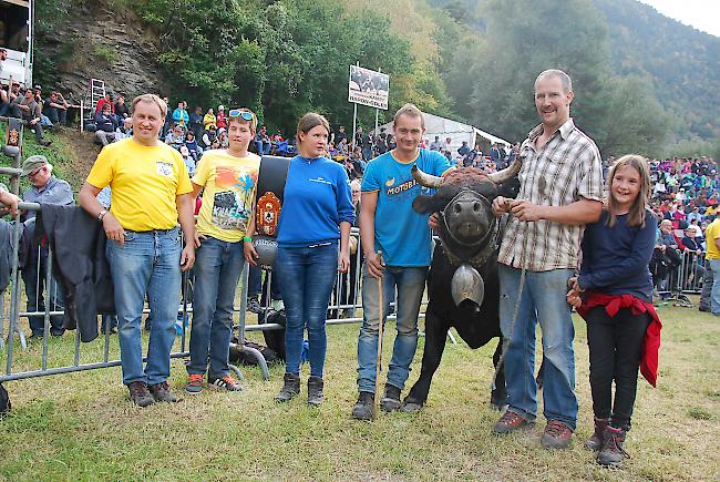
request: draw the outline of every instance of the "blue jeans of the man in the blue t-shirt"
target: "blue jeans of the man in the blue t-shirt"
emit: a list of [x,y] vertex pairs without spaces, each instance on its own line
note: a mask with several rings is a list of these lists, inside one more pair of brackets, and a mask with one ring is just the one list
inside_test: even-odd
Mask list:
[[[392,348],[388,368],[388,383],[402,390],[410,375],[410,363],[418,348],[418,315],[425,290],[428,268],[402,268],[385,266],[382,275],[383,324],[388,317],[390,301],[398,287],[397,328],[398,336]],[[358,337],[358,389],[376,391],[376,368],[378,361],[378,334],[380,328],[380,300],[378,279],[362,269],[362,327]]]

